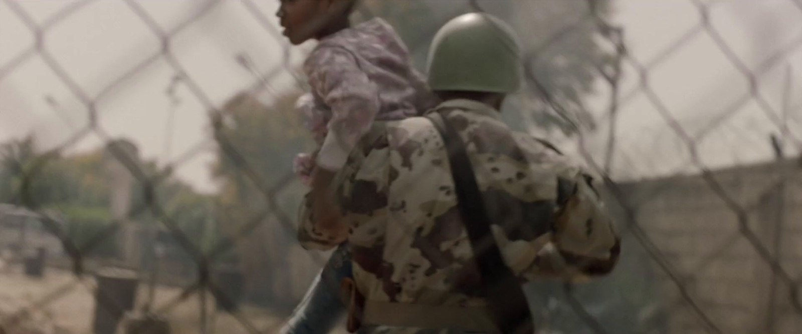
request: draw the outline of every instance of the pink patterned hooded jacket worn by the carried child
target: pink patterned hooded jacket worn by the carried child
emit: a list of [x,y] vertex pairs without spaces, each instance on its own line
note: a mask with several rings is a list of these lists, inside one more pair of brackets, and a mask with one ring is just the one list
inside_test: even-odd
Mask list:
[[438,102],[407,46],[381,18],[323,38],[304,62],[312,87],[308,127],[316,163],[338,171],[374,121],[421,115]]

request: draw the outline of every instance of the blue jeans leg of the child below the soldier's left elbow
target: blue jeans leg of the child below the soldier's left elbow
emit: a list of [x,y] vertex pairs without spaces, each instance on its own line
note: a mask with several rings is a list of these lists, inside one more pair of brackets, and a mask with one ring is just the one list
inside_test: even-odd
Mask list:
[[283,334],[320,334],[330,332],[346,313],[346,305],[339,299],[340,282],[351,277],[351,256],[346,243],[331,254],[326,266],[315,277],[312,287],[301,304],[295,308],[290,320],[282,328]]

